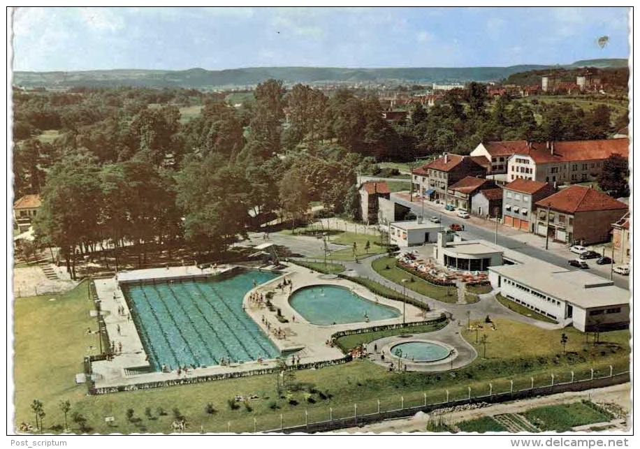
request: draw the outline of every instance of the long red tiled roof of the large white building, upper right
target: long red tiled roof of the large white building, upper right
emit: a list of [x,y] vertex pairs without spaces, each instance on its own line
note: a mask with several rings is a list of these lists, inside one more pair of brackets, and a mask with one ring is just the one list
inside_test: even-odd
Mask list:
[[531,148],[518,149],[515,154],[530,156],[536,163],[593,161],[606,159],[611,154],[629,157],[628,138],[565,140],[552,143],[553,154],[551,149],[546,147],[546,142],[535,142]]

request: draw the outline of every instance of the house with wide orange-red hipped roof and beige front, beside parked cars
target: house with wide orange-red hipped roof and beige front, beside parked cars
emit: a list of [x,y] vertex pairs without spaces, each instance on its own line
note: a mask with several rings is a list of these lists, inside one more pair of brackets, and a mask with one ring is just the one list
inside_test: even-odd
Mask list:
[[569,186],[535,203],[535,233],[565,243],[611,240],[611,223],[627,214],[616,198],[585,186]]

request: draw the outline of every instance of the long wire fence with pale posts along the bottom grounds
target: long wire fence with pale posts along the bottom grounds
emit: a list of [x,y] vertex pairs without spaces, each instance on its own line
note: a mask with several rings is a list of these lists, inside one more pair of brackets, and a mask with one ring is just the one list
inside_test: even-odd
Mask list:
[[[304,410],[262,415],[219,422],[203,432],[329,432],[356,427],[393,418],[412,416],[419,411],[428,413],[467,404],[493,404],[560,392],[602,388],[630,381],[628,365],[612,365],[582,371],[564,371],[556,374],[501,378],[486,383],[449,386],[425,392],[399,393],[395,397],[382,397],[336,407],[313,406]],[[300,404],[301,405],[301,404]],[[299,407],[299,406],[298,406]]]

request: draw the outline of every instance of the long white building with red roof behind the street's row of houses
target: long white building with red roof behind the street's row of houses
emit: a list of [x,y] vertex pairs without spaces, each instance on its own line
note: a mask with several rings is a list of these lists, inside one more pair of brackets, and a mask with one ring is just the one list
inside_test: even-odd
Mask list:
[[629,139],[514,141],[507,163],[507,180],[532,179],[550,184],[574,184],[597,179],[612,154],[629,157]]

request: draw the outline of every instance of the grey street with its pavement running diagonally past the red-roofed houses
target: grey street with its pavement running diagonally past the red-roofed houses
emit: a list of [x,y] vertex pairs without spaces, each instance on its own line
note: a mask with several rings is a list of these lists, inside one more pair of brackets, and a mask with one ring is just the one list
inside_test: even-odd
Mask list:
[[[405,194],[404,197],[408,198],[407,194]],[[398,195],[398,193],[392,193],[391,198],[401,205],[411,207],[412,211],[416,215],[420,216],[422,214],[423,204],[420,199],[414,200],[414,202],[409,202],[403,198],[403,196]],[[567,261],[569,259],[575,259],[577,256],[571,253],[569,248],[564,244],[549,242],[549,249],[547,250],[544,249],[543,237],[532,233],[523,233],[522,231],[507,228],[502,225],[498,225],[496,237],[495,229],[492,230],[488,226],[478,226],[473,223],[473,221],[476,221],[475,219],[460,219],[455,216],[455,212],[446,212],[442,205],[435,205],[430,201],[424,202],[424,216],[426,218],[430,216],[438,216],[445,228],[448,228],[451,223],[463,224],[465,226],[465,230],[459,234],[467,240],[488,240],[489,242],[495,242],[509,249],[514,249],[515,251],[539,258],[548,263],[553,263],[560,267],[568,268],[569,270],[576,270],[571,267]],[[490,223],[490,225],[492,227],[494,226],[493,223]],[[509,232],[511,235],[505,236],[503,234],[504,231]],[[537,245],[540,245],[541,247]],[[588,260],[587,263],[589,265],[589,269],[587,270],[588,272],[606,279],[611,279],[611,265],[596,265],[595,260],[593,259]],[[613,282],[616,286],[629,290],[629,277],[614,273]]]

